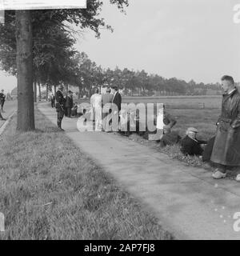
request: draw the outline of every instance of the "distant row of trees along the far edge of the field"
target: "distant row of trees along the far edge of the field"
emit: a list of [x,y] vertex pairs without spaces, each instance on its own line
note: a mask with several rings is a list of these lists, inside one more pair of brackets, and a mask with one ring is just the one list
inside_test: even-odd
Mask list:
[[[121,70],[102,69],[92,62],[84,52],[74,54],[66,66],[64,74],[66,86],[77,86],[78,97],[90,97],[94,87],[116,85],[127,96],[159,96],[159,95],[206,95],[208,90],[220,91],[219,83],[204,84],[194,80],[186,82],[178,78],[162,78],[158,74],[147,74],[145,70],[134,71],[127,68]],[[51,86],[45,86],[53,90]],[[47,94],[46,94],[47,97]]]

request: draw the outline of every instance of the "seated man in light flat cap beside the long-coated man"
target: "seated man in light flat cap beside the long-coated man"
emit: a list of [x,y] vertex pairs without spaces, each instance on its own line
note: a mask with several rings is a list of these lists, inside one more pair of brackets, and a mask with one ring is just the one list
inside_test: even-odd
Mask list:
[[186,137],[182,139],[181,151],[186,155],[201,156],[206,145],[206,141],[198,140],[196,135],[198,130],[194,127],[190,127],[186,130]]

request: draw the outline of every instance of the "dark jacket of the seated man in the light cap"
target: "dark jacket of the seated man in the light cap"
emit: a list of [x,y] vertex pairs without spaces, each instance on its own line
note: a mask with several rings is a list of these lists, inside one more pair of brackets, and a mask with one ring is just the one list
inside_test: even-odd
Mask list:
[[202,155],[203,150],[200,146],[201,144],[206,144],[206,142],[198,139],[194,140],[186,135],[181,142],[181,151],[183,154]]

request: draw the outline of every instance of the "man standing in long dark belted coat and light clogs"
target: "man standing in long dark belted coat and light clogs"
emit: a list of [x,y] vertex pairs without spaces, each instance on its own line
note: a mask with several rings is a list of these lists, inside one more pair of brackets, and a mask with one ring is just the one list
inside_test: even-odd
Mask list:
[[[222,77],[222,114],[218,118],[211,162],[218,165],[213,178],[225,178],[228,166],[240,166],[240,94],[234,78]],[[238,178],[238,177],[237,177]]]

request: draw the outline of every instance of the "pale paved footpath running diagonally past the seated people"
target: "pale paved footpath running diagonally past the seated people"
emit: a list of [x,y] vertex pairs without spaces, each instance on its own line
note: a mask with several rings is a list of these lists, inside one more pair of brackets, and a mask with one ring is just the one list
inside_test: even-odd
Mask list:
[[[49,103],[38,109],[56,123]],[[240,239],[234,214],[240,212],[240,183],[214,181],[207,170],[174,161],[115,134],[77,130],[77,119],[64,118],[62,128],[81,150],[111,174],[150,210],[159,224],[179,239]],[[240,213],[239,213],[240,218]]]

